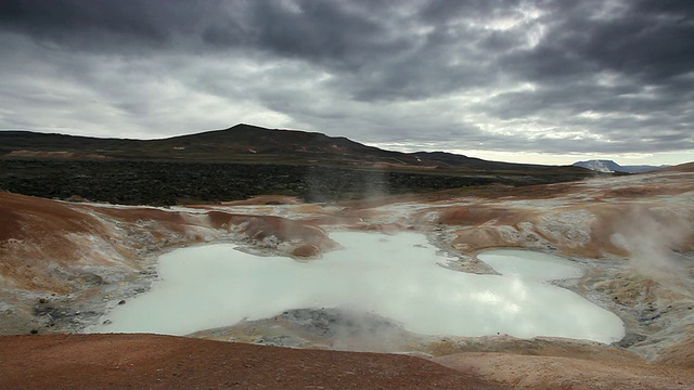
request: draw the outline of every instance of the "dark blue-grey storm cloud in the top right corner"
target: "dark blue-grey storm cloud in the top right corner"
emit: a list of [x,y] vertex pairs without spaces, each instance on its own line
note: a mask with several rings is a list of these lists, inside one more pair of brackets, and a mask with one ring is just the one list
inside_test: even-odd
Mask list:
[[629,8],[618,17],[596,17],[602,1],[568,3],[580,5],[552,13],[547,38],[532,50],[510,53],[510,70],[540,81],[613,70],[657,83],[694,68],[694,3],[625,2]]

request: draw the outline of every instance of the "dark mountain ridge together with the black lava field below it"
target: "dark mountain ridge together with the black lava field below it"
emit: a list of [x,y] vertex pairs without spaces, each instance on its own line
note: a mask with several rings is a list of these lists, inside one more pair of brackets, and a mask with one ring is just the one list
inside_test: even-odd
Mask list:
[[125,205],[215,203],[264,194],[332,202],[591,174],[576,167],[382,151],[345,138],[246,125],[152,141],[0,132],[0,190]]

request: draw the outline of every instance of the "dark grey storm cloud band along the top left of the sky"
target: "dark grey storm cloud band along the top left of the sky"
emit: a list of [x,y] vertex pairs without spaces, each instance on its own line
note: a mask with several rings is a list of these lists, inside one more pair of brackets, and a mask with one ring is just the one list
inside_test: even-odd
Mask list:
[[351,54],[367,56],[400,44],[373,39],[387,34],[384,26],[367,10],[349,6],[319,0],[296,6],[282,1],[10,0],[0,5],[0,22],[7,30],[93,51],[128,51],[124,41],[184,51],[203,43],[342,63]]

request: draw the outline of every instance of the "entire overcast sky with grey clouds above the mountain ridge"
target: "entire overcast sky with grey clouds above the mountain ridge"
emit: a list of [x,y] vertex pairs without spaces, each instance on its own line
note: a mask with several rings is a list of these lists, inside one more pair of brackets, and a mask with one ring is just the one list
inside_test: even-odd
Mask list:
[[0,130],[694,160],[690,0],[0,0]]

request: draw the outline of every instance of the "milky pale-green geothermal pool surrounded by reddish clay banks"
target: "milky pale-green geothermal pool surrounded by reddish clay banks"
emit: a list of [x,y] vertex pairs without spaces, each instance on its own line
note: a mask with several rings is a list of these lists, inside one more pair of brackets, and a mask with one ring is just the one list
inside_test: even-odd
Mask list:
[[337,232],[331,237],[345,249],[310,262],[258,257],[231,244],[175,250],[159,258],[160,281],[150,291],[116,307],[104,317],[112,323],[92,330],[187,335],[290,309],[345,307],[428,335],[600,342],[625,335],[612,312],[543,282],[580,275],[565,259],[489,251],[480,260],[502,275],[476,275],[440,266],[450,259],[437,255],[422,234]]

